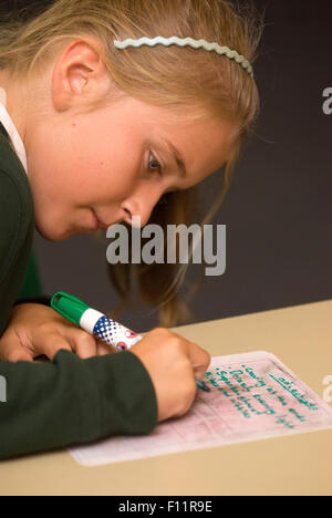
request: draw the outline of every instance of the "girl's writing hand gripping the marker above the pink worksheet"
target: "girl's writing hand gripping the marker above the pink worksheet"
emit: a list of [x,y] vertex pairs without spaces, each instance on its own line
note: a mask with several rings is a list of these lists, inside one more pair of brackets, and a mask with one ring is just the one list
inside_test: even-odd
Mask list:
[[196,379],[203,380],[210,355],[163,328],[147,333],[131,352],[149,373],[157,396],[158,421],[186,414],[197,394]]

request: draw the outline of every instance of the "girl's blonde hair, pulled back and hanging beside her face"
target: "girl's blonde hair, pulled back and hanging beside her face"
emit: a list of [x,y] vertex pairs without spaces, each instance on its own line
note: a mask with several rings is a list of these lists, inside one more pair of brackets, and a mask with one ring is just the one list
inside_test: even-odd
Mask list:
[[[181,110],[186,120],[220,117],[236,123],[232,154],[224,172],[224,185],[201,222],[211,221],[231,183],[242,145],[259,112],[256,82],[238,63],[215,52],[191,48],[142,46],[117,50],[113,41],[127,38],[205,39],[229,46],[251,64],[262,32],[262,15],[253,4],[227,0],[58,0],[29,22],[3,23],[0,28],[0,66],[13,77],[42,70],[68,41],[95,37],[101,56],[116,91],[151,105]],[[90,42],[91,44],[91,42]],[[152,222],[189,224],[194,189],[166,194],[156,206]],[[165,242],[165,246],[167,244]],[[189,312],[178,298],[186,268],[174,265],[118,265],[110,276],[129,302],[133,272],[142,298],[159,310],[165,327],[188,321]],[[120,309],[118,308],[118,309]],[[117,315],[118,311],[113,315]]]

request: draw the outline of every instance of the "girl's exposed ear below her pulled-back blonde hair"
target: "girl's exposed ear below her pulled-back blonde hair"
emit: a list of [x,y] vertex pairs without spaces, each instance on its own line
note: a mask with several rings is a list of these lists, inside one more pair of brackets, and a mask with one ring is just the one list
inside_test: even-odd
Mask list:
[[95,49],[97,40],[74,40],[58,59],[52,75],[52,100],[56,111],[86,104],[103,97],[110,87],[106,68]]

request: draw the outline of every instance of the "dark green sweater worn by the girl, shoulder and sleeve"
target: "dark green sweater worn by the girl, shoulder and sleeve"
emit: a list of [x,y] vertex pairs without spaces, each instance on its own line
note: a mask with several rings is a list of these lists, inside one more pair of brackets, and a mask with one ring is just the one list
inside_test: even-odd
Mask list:
[[[29,180],[0,124],[0,338],[23,284],[33,227]],[[153,383],[131,352],[81,360],[63,350],[52,363],[0,361],[0,459],[146,434],[157,421]]]

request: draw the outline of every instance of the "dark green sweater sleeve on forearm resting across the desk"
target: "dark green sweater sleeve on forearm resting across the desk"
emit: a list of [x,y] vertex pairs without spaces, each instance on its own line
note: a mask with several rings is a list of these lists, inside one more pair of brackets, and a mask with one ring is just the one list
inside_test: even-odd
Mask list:
[[[52,363],[0,362],[0,459],[147,434],[157,422],[154,385],[131,352]],[[2,401],[2,402],[1,402]]]

